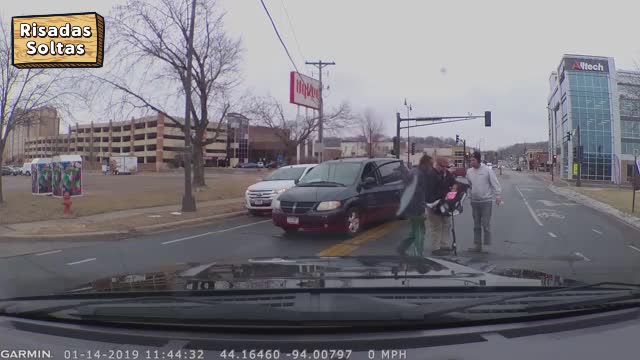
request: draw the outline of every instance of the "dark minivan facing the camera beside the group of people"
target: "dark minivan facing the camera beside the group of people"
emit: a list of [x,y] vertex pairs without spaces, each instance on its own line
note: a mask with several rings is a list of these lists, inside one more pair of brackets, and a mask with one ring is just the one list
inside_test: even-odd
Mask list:
[[314,167],[273,200],[272,219],[286,232],[344,231],[396,217],[407,169],[397,159],[340,159]]

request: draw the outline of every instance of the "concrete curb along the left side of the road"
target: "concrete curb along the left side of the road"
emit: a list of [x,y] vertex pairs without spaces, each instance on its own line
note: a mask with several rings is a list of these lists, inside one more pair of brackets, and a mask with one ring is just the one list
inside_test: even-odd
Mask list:
[[[209,220],[215,220],[215,219],[232,218],[232,217],[237,217],[237,216],[244,215],[246,213],[247,213],[246,210],[234,211],[234,212],[230,212],[230,213],[209,215],[209,216],[203,216],[203,217],[194,218],[194,219],[187,219],[187,220],[179,220],[179,221],[174,221],[174,222],[164,223],[164,224],[144,225],[144,226],[140,226],[140,227],[137,227],[137,228],[132,228],[132,229],[129,229],[129,230],[123,230],[123,231],[95,231],[95,232],[86,232],[86,233],[51,234],[51,235],[15,234],[15,235],[8,235],[8,236],[0,236],[0,242],[6,241],[6,240],[13,240],[13,239],[41,240],[41,239],[61,239],[61,238],[64,238],[65,240],[82,240],[82,239],[74,239],[74,238],[110,236],[110,235],[157,234],[157,233],[161,233],[163,231],[173,230],[173,229],[168,229],[168,228],[172,228],[172,227],[178,227],[178,226],[181,226],[181,225],[193,225],[193,224],[198,224],[198,223],[206,222],[206,221],[209,221]],[[94,241],[94,239],[91,239],[89,241]]]

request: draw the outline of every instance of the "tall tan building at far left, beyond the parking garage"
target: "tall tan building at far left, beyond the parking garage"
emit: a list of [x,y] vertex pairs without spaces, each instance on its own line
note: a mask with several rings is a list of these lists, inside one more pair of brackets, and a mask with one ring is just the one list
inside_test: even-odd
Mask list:
[[43,153],[53,154],[56,137],[60,133],[60,117],[56,109],[43,107],[29,111],[25,121],[21,121],[7,137],[3,151],[6,163],[22,163],[25,161],[25,143],[30,139],[39,139],[39,147]]

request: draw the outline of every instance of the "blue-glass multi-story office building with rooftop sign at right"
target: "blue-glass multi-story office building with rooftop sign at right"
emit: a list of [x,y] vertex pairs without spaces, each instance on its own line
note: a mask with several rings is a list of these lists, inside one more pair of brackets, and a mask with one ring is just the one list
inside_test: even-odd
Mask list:
[[[611,57],[564,55],[549,78],[549,153],[562,178],[621,183],[640,151],[640,73],[616,70]],[[570,140],[567,134],[571,133]]]

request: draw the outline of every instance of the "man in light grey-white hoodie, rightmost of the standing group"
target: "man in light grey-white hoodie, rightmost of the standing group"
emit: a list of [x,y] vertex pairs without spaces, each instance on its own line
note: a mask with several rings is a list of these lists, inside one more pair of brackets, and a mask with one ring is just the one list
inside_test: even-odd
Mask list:
[[467,180],[471,185],[471,210],[473,215],[473,243],[471,252],[482,252],[484,245],[490,246],[491,210],[495,199],[496,205],[502,203],[502,188],[493,169],[480,162],[481,155],[475,152],[471,158],[471,167],[467,170]]

